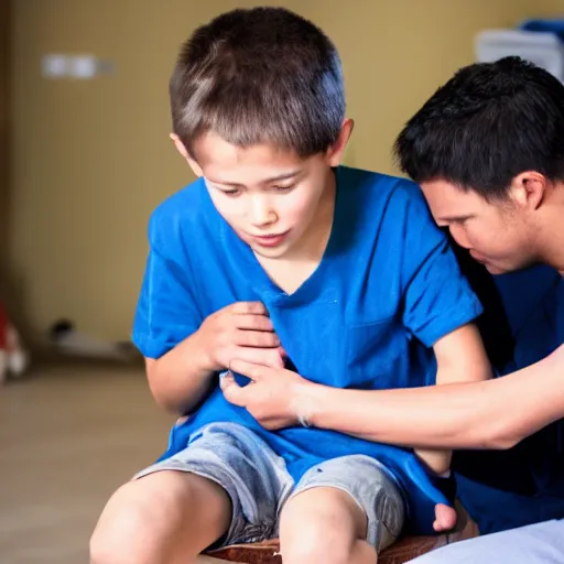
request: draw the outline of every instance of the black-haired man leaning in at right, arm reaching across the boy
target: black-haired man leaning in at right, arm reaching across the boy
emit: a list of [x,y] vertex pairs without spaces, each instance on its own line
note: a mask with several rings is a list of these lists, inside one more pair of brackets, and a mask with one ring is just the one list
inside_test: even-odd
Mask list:
[[[408,122],[395,153],[401,169],[421,185],[435,221],[491,274],[541,263],[553,274],[564,274],[564,85],[552,75],[516,57],[465,67]],[[544,513],[538,511],[536,520],[543,514],[546,520],[454,544],[417,564],[564,562],[564,521],[558,520],[564,517],[564,473],[558,471],[564,440],[555,423],[564,416],[561,284],[560,276],[551,281],[538,302],[522,295],[532,316],[540,312],[539,326],[550,339],[528,340],[514,330],[516,371],[502,378],[352,391],[317,386],[288,370],[234,362],[231,369],[254,383],[239,389],[229,382],[225,394],[270,429],[306,422],[420,448],[516,453],[513,447],[524,438],[550,429],[549,435],[538,435],[544,441],[544,468],[528,473],[536,477],[541,496],[556,500]],[[522,318],[513,316],[512,328],[528,323],[530,328],[523,305],[514,308]],[[529,354],[530,347],[534,354]],[[530,364],[541,351],[546,356]],[[487,475],[496,468],[482,470]],[[495,503],[490,501],[491,510]]]

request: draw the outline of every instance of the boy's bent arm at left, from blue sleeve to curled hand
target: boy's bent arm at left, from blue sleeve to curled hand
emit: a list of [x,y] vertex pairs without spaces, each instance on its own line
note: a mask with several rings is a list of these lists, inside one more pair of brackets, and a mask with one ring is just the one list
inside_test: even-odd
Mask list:
[[150,250],[132,339],[147,364],[155,401],[189,413],[234,358],[282,367],[279,340],[264,305],[237,302],[205,315],[191,264],[189,231],[174,210],[158,208],[149,224]]

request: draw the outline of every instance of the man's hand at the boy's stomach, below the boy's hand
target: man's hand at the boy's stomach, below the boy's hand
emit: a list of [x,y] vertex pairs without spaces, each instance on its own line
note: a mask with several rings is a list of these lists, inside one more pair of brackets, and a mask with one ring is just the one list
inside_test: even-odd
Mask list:
[[315,384],[283,368],[234,360],[229,369],[250,378],[241,388],[228,373],[220,380],[226,400],[247,411],[264,427],[276,430],[303,423],[311,413],[307,391]]

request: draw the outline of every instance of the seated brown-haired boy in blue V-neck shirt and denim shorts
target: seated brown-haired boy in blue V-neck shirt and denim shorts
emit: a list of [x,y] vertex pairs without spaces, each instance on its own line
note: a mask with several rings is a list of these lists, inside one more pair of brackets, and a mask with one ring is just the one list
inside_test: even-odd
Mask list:
[[276,534],[284,564],[376,562],[404,525],[429,532],[449,453],[269,432],[217,377],[246,361],[338,388],[485,379],[480,305],[417,186],[339,165],[352,122],[312,23],[220,15],[184,45],[171,105],[199,180],[151,218],[133,338],[155,400],[191,416],[109,501],[93,562],[184,564]]

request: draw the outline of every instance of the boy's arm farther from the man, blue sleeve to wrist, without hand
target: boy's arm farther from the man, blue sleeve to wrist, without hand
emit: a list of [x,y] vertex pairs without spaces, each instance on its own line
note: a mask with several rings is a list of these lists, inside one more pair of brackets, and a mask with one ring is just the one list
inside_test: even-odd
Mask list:
[[155,401],[166,410],[186,413],[208,390],[212,369],[198,347],[204,319],[175,213],[160,206],[151,215],[132,340],[145,358]]

